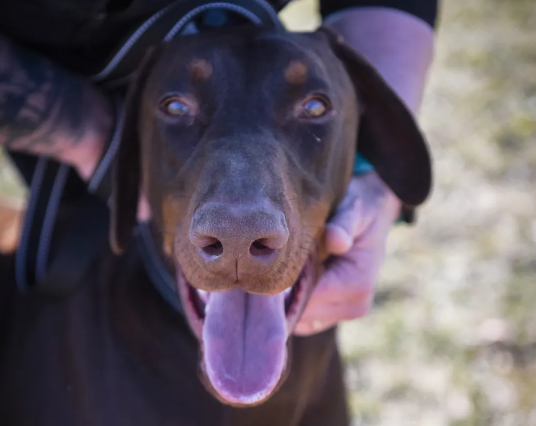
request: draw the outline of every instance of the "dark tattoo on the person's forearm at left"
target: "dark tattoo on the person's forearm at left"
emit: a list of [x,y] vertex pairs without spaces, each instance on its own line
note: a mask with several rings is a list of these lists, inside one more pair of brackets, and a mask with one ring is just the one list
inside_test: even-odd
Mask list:
[[0,37],[0,146],[59,155],[82,141],[101,99],[78,77]]

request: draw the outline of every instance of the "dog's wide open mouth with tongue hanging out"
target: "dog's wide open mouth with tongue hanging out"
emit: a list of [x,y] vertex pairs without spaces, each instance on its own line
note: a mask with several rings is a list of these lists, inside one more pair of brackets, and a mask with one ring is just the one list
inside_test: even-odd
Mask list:
[[294,285],[268,296],[239,288],[198,290],[178,269],[182,306],[201,343],[201,367],[219,399],[237,406],[266,400],[285,372],[287,340],[313,288],[312,257]]

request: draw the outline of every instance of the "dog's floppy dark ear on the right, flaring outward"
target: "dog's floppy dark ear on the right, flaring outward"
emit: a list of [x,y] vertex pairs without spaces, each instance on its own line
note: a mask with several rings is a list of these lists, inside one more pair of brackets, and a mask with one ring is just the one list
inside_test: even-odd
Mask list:
[[432,166],[425,139],[412,114],[372,65],[342,37],[325,27],[319,31],[327,35],[361,102],[358,152],[374,165],[406,207],[421,204],[431,190]]

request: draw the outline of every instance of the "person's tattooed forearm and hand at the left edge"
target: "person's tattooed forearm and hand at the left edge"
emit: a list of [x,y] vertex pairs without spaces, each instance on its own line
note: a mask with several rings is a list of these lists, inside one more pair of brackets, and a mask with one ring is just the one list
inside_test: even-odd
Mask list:
[[104,94],[0,36],[0,147],[54,157],[88,179],[112,126]]

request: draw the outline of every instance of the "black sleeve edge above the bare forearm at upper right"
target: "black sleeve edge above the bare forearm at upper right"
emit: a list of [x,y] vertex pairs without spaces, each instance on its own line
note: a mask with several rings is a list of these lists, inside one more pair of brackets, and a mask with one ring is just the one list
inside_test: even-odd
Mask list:
[[350,7],[379,6],[407,12],[435,28],[439,0],[320,0],[322,18]]

